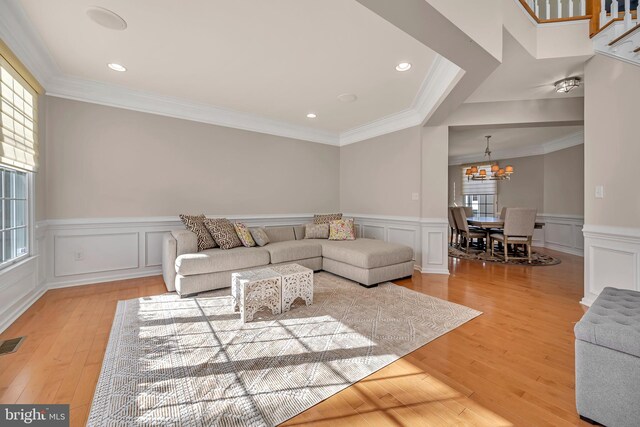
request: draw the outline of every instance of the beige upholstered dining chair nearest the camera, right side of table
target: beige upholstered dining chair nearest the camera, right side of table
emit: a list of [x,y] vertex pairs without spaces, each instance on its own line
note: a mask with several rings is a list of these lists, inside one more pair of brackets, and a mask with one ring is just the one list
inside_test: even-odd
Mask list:
[[509,245],[526,245],[527,257],[531,263],[531,242],[537,214],[538,210],[533,208],[507,208],[502,233],[492,233],[489,236],[491,255],[494,251],[494,240],[502,243],[505,261],[509,261]]

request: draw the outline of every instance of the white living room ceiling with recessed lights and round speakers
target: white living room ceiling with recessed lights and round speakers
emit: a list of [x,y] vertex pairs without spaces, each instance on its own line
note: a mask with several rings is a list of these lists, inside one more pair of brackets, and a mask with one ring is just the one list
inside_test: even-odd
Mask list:
[[[411,108],[437,57],[355,1],[21,4],[64,75],[330,132]],[[116,12],[128,28],[98,26],[89,6]],[[396,71],[401,61],[412,69]],[[128,71],[111,71],[109,62]],[[358,100],[342,103],[343,93]]]

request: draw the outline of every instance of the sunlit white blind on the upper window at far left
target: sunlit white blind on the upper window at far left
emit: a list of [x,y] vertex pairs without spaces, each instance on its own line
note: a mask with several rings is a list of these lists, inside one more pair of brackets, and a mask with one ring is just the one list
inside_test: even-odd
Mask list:
[[0,164],[36,172],[36,93],[1,56],[0,95]]

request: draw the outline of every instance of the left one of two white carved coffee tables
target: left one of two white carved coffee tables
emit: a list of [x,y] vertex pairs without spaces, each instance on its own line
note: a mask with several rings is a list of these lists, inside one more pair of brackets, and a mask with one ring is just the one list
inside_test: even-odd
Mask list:
[[231,275],[231,295],[235,311],[242,322],[251,322],[262,307],[273,314],[282,312],[282,276],[270,268],[249,270]]

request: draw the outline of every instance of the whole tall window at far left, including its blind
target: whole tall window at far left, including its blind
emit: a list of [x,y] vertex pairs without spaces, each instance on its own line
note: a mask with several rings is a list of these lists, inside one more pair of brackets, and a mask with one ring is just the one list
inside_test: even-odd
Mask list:
[[0,268],[29,255],[37,95],[0,56]]

